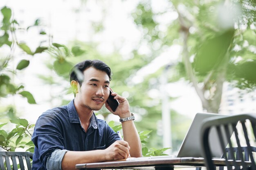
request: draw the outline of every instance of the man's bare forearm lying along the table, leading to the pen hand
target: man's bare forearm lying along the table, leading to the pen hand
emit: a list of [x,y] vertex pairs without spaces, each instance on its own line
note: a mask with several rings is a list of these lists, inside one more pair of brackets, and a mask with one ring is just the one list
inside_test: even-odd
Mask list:
[[92,163],[106,161],[104,150],[91,151],[68,151],[62,160],[63,170],[76,170],[75,166],[79,163]]

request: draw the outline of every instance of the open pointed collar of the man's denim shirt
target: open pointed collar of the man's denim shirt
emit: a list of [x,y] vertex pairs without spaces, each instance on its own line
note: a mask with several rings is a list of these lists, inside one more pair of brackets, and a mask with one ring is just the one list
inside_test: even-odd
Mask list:
[[[81,123],[78,113],[76,112],[76,108],[74,105],[74,100],[71,100],[69,104],[67,104],[67,111],[68,114],[70,116],[70,123]],[[90,125],[94,128],[97,129],[98,128],[98,120],[94,114],[94,112],[92,113],[92,117],[91,117],[91,122]]]

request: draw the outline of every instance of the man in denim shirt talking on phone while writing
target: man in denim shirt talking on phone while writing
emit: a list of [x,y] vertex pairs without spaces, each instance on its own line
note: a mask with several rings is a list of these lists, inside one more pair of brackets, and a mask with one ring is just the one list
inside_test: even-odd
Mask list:
[[[141,143],[129,103],[117,93],[110,94],[110,80],[111,70],[102,61],[85,60],[74,66],[70,73],[74,100],[46,111],[36,122],[32,169],[71,170],[78,163],[125,159],[129,154],[141,157]],[[109,95],[119,102],[115,112],[106,102]],[[96,118],[94,111],[104,104],[122,120],[124,141],[104,120]]]

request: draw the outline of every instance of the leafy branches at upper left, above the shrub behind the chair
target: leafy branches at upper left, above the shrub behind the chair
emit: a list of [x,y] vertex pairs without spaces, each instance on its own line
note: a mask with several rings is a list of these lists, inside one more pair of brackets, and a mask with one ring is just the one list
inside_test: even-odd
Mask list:
[[[3,15],[2,19],[2,26],[1,26],[1,33],[0,33],[0,47],[7,45],[9,46],[11,52],[7,57],[1,57],[0,59],[0,97],[7,97],[9,94],[20,94],[22,97],[27,98],[29,103],[35,104],[34,97],[30,92],[24,91],[23,85],[16,85],[13,83],[13,75],[16,74],[16,70],[11,70],[9,68],[9,63],[13,59],[13,52],[16,48],[16,45],[20,47],[20,50],[23,50],[27,54],[34,55],[36,53],[43,52],[47,48],[40,47],[36,49],[35,52],[31,52],[30,48],[24,43],[18,43],[16,37],[16,30],[18,29],[17,26],[19,25],[18,22],[11,17],[11,9],[8,7],[3,7],[1,9],[1,13]],[[9,41],[9,39],[12,41]],[[22,59],[18,63],[16,69],[22,70],[29,65],[29,61]]]

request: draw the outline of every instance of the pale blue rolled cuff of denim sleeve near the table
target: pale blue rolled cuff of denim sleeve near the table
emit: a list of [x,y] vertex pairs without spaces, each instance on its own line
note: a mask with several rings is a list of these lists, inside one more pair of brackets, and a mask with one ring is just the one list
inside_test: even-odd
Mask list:
[[51,154],[51,156],[48,157],[47,163],[46,163],[46,168],[47,170],[62,170],[61,169],[61,162],[62,159],[67,153],[68,150],[60,150],[56,149],[54,152]]

